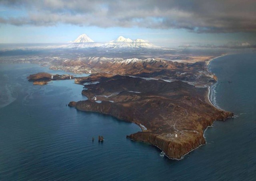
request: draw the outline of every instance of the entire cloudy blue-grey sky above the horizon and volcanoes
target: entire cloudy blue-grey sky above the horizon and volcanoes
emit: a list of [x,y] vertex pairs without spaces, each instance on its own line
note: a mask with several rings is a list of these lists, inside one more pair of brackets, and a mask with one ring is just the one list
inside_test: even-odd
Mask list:
[[256,47],[255,0],[0,0],[0,43],[95,42]]

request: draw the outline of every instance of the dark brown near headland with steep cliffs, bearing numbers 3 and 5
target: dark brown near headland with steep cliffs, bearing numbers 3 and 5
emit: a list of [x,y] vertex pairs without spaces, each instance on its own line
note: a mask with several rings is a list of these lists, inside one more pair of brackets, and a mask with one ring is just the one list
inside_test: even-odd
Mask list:
[[203,101],[207,88],[181,81],[147,81],[118,75],[86,87],[82,94],[88,100],[72,101],[69,106],[134,122],[142,132],[128,138],[153,144],[173,159],[205,144],[203,132],[214,120],[233,115]]

